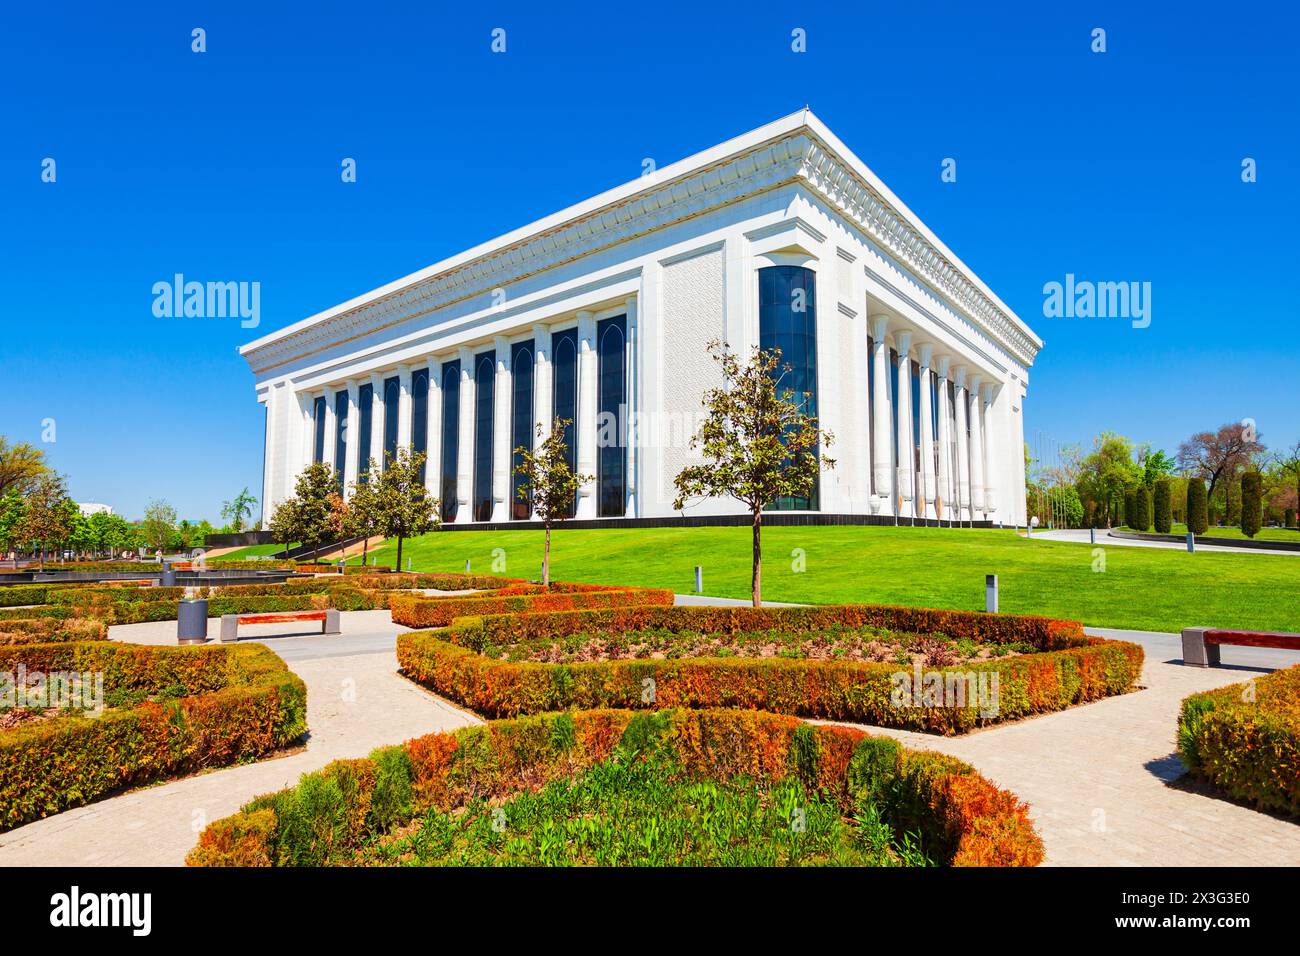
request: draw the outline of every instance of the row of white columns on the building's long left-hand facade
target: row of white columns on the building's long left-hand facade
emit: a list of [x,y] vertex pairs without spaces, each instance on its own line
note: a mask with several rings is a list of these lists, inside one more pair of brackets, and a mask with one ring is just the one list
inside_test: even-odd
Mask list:
[[[577,414],[575,415],[576,434],[576,466],[580,475],[597,475],[597,411],[598,411],[598,354],[597,354],[597,317],[590,311],[577,313]],[[624,493],[627,509],[624,516],[636,515],[636,416],[630,407],[634,405],[637,394],[637,300],[629,298],[625,303],[625,367],[624,367],[624,394],[627,398],[627,445],[624,467]],[[533,325],[533,428],[530,441],[537,447],[546,440],[554,411],[554,367],[551,355],[552,326],[538,323]],[[494,352],[494,382],[493,382],[493,447],[491,447],[491,516],[489,520],[506,522],[511,519],[514,502],[514,369],[512,342],[507,336],[497,336],[493,339]],[[476,445],[476,390],[477,390],[477,358],[486,351],[486,343],[477,349],[462,346],[456,352],[459,359],[459,414],[456,419],[456,516],[455,522],[464,523],[474,520],[473,484],[474,484],[474,445]],[[434,497],[442,497],[443,472],[443,363],[450,362],[450,356],[429,358],[429,397],[426,414],[425,438],[425,486]],[[338,385],[329,386],[322,392],[298,393],[298,412],[300,415],[302,441],[296,450],[296,463],[291,468],[296,476],[316,457],[316,399],[324,397],[325,436],[321,460],[339,468],[343,472],[344,494],[350,494],[361,470],[361,462],[373,458],[376,464],[384,467],[384,445],[387,414],[384,385],[387,378],[398,378],[398,406],[396,406],[396,444],[399,449],[411,449],[413,444],[413,397],[411,381],[419,365],[400,364],[395,369],[385,372],[372,372],[370,382],[370,434],[367,449],[359,447],[360,440],[360,386],[361,381],[350,378]],[[335,401],[341,392],[347,393],[347,431],[346,431],[346,460],[335,462],[337,457],[337,411]],[[538,434],[537,428],[541,428]],[[289,484],[291,493],[292,481]],[[597,488],[595,480],[584,483],[578,489],[575,518],[597,516]]]

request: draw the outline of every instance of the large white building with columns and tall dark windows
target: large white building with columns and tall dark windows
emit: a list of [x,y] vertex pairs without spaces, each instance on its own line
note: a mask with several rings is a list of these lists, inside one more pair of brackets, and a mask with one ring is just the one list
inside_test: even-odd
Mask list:
[[781,347],[835,436],[836,467],[783,510],[1024,522],[1041,339],[809,111],[240,349],[264,514],[312,460],[351,486],[411,446],[445,522],[528,520],[514,449],[563,418],[597,476],[577,519],[673,516],[714,339]]

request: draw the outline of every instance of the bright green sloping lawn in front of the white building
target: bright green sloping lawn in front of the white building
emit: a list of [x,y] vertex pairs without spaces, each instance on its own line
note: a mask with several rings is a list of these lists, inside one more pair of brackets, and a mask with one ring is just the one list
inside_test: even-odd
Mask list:
[[[702,564],[706,594],[749,596],[749,528],[556,531],[551,541],[556,580],[689,593]],[[1105,571],[1095,571],[1091,545],[1027,541],[1010,531],[768,528],[763,542],[770,601],[983,610],[984,575],[997,574],[1001,610],[1010,613],[1144,631],[1300,631],[1300,555],[1112,545]],[[396,544],[370,555],[393,564]],[[436,532],[404,542],[403,564],[408,557],[416,571],[463,571],[469,559],[480,574],[537,578],[542,532]]]

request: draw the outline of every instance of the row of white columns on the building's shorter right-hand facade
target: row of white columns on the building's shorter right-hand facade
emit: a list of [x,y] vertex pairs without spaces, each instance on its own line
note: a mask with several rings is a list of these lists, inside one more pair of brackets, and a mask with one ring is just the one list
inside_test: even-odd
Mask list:
[[[893,333],[897,351],[897,437],[893,428],[888,316],[872,316],[872,492],[880,512],[900,518],[984,520],[997,510],[993,470],[997,429],[985,428],[997,394],[996,382],[953,365],[949,356],[935,362],[935,347],[915,346],[920,407],[914,410],[911,388],[913,332]],[[949,406],[952,381],[956,407]],[[936,389],[937,384],[937,389]],[[937,392],[939,414],[933,401]],[[920,423],[920,468],[915,467],[914,416]],[[937,434],[935,425],[937,419]],[[919,486],[916,486],[919,484]]]

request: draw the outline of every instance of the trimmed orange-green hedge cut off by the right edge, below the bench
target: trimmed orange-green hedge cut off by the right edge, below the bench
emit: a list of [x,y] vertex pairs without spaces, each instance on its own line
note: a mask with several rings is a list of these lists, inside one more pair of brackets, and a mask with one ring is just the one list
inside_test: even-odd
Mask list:
[[1178,753],[1232,799],[1300,817],[1300,665],[1184,698]]

